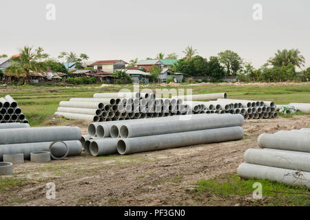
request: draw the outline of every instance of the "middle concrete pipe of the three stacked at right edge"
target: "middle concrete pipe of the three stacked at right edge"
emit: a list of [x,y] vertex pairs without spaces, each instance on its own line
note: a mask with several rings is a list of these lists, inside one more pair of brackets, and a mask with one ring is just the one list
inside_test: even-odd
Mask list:
[[310,172],[310,153],[275,149],[247,149],[245,162]]

